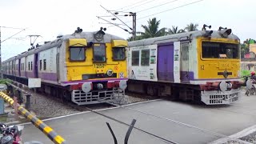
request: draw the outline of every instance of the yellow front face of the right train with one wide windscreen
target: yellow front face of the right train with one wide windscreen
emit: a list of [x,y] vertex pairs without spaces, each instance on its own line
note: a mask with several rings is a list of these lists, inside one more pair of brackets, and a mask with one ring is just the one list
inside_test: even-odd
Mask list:
[[197,39],[198,82],[207,105],[229,104],[240,95],[240,41],[230,31]]

